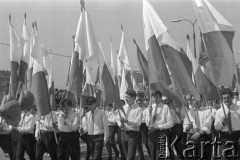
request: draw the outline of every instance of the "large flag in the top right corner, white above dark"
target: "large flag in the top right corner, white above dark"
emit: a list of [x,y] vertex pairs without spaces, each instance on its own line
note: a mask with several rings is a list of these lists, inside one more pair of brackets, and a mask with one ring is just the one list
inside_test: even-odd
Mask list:
[[215,84],[231,87],[235,67],[234,28],[207,0],[194,0],[194,8]]

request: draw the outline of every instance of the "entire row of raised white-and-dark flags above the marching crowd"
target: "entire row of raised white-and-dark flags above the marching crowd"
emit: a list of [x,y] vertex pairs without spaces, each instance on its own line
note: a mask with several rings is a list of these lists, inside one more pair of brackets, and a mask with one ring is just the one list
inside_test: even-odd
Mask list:
[[[143,0],[142,12],[146,56],[133,40],[144,84],[177,101],[183,101],[182,96],[187,94],[196,99],[217,99],[218,86],[232,87],[234,75],[234,83],[239,75],[232,49],[233,26],[207,0],[193,0],[193,3],[202,40],[202,50],[197,57],[191,52],[189,39],[185,53],[147,0]],[[9,28],[10,93],[15,95],[18,83],[22,82],[33,92],[39,114],[45,115],[55,106],[51,53],[41,43],[36,23],[32,24],[31,34],[28,33],[26,14],[22,36],[14,29],[11,17]],[[108,65],[81,1],[67,81],[67,91],[75,94],[77,103],[83,101],[83,96],[95,96],[104,106],[112,102],[120,106],[120,99],[124,99],[128,89],[138,90],[123,26],[121,29],[118,53],[110,36],[111,65]]]

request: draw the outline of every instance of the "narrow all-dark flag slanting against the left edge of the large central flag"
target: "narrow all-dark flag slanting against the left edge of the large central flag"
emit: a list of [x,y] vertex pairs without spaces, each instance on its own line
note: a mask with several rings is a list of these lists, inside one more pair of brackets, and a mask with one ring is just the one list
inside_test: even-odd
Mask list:
[[139,48],[139,46],[137,45],[137,42],[135,40],[134,40],[134,43],[136,44],[136,47],[137,47],[138,67],[140,68],[140,70],[142,72],[145,85],[148,86],[148,61],[145,58],[145,56],[143,55],[141,49]]

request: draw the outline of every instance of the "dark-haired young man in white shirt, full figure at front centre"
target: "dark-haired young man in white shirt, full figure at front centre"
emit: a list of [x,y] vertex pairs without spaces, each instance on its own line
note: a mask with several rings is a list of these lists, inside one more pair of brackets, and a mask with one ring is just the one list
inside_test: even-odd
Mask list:
[[125,93],[126,104],[123,111],[119,112],[117,124],[121,128],[121,141],[127,160],[134,160],[137,142],[142,122],[142,109],[134,103],[136,92],[128,90]]

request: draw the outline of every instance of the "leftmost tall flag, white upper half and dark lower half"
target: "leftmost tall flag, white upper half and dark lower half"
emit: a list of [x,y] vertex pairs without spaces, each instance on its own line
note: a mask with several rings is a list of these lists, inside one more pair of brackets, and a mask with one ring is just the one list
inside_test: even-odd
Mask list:
[[21,38],[16,32],[9,15],[9,35],[10,35],[10,85],[9,94],[16,95],[18,88],[18,69],[20,64],[20,56],[22,52]]

